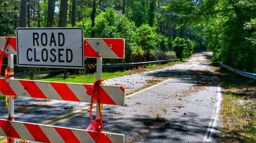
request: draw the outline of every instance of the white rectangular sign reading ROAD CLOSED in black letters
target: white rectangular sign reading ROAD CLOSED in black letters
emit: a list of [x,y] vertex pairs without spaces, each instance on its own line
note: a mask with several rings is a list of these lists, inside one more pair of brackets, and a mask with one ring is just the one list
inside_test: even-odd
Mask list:
[[81,27],[17,28],[17,65],[83,68]]

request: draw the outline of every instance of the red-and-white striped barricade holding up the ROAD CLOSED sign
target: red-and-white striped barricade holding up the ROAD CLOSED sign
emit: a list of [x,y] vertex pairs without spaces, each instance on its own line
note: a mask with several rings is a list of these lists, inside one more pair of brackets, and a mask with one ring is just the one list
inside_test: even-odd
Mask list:
[[[124,39],[86,38],[83,39],[83,43],[84,57],[97,58],[97,80],[100,80],[102,76],[102,58],[124,58]],[[12,55],[8,58],[8,62],[12,63],[10,65],[13,67],[13,54],[17,53],[15,37],[0,37],[0,54],[3,53]],[[10,97],[89,103],[93,101],[97,105],[124,105],[125,87],[123,86],[98,85],[97,92],[100,95],[95,100],[88,94],[92,91],[93,84],[0,78],[0,85],[0,94]],[[12,102],[11,110],[14,119],[14,101]],[[96,120],[99,120],[101,110],[99,106],[96,107]],[[3,119],[0,119],[0,135],[40,142],[124,142],[123,134],[103,132],[103,129],[99,132]]]

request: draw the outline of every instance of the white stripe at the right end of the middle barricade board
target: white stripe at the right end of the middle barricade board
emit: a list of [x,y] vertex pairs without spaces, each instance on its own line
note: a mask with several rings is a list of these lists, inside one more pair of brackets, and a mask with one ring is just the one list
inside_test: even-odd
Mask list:
[[118,86],[104,85],[101,88],[111,97],[117,105],[124,105],[124,93]]

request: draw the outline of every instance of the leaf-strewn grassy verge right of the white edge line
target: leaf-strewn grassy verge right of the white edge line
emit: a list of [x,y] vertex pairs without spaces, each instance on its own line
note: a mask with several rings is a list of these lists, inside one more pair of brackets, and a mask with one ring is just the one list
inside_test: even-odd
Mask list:
[[[225,71],[226,72],[226,71]],[[221,131],[223,142],[256,142],[256,85],[238,79],[237,75],[221,75],[223,83]]]

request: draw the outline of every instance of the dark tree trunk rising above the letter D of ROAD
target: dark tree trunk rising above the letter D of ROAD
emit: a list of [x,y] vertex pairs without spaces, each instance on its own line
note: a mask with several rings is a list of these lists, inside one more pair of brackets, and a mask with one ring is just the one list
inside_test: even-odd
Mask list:
[[67,26],[67,14],[68,14],[68,0],[61,0],[60,9],[59,9],[58,27]]

